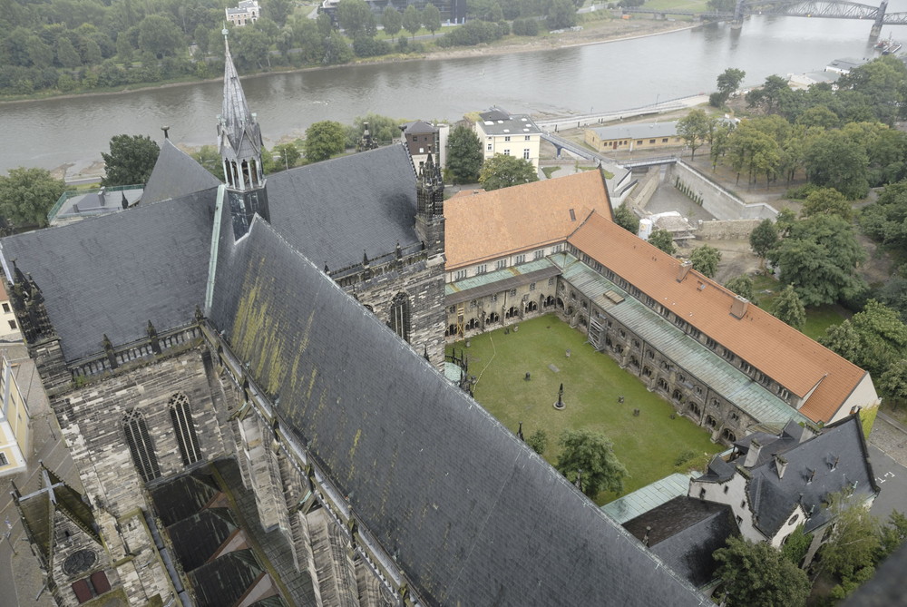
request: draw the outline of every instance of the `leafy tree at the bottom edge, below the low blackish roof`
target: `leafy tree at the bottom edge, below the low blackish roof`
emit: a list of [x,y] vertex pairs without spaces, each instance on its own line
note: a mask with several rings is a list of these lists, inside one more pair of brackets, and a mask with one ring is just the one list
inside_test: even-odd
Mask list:
[[727,607],[799,607],[810,583],[806,573],[766,542],[732,536],[712,555],[727,592]]

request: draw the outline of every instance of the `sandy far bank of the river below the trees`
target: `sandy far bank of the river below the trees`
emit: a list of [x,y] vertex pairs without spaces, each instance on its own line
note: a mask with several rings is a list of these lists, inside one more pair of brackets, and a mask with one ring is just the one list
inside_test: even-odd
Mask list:
[[[624,40],[633,40],[658,34],[669,34],[679,30],[691,29],[698,24],[689,22],[667,21],[656,19],[600,19],[583,24],[580,31],[565,31],[560,34],[541,34],[539,36],[508,36],[494,44],[478,44],[476,46],[463,46],[455,48],[438,48],[432,47],[426,49],[423,54],[392,54],[381,57],[369,57],[357,59],[349,64],[339,65],[313,65],[306,67],[293,68],[288,67],[275,68],[269,71],[252,72],[240,74],[244,79],[265,77],[273,73],[306,73],[320,70],[335,69],[346,65],[362,64],[391,64],[399,62],[412,61],[443,61],[445,59],[460,59],[468,57],[480,57],[494,54],[515,54],[530,53],[533,51],[544,51],[557,48],[571,48],[574,46],[587,46],[590,44],[607,44],[620,42]],[[439,36],[440,37],[440,36]],[[130,84],[117,89],[108,89],[104,91],[89,91],[84,93],[61,93],[61,94],[35,94],[22,98],[0,98],[0,105],[15,103],[38,103],[48,100],[73,99],[73,98],[90,98],[109,95],[125,95],[131,93],[141,93],[153,89],[170,89],[180,86],[191,86],[198,83],[217,82],[222,80],[221,76],[207,79],[180,79],[177,82],[165,83],[148,83]]]

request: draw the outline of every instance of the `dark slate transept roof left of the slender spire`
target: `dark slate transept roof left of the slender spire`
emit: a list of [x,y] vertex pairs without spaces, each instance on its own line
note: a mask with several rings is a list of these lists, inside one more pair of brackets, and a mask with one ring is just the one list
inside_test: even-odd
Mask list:
[[[139,205],[0,241],[44,293],[47,314],[74,360],[193,321],[204,303],[216,190]],[[7,275],[7,279],[11,277]]]

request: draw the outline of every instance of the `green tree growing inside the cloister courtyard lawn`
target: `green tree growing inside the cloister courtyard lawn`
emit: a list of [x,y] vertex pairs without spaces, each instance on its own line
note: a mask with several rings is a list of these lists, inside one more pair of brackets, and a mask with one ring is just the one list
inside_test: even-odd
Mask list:
[[580,479],[580,491],[595,497],[600,491],[620,493],[627,468],[614,455],[610,439],[591,430],[564,430],[561,455],[555,466],[571,483]]

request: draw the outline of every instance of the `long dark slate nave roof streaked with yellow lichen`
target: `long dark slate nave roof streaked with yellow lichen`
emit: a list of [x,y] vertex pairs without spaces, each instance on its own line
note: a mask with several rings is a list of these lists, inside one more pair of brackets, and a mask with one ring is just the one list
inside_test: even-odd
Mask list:
[[707,604],[267,222],[230,249],[211,321],[427,604]]

